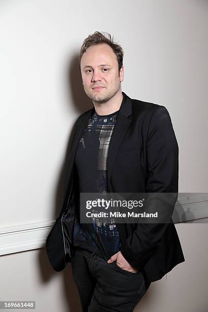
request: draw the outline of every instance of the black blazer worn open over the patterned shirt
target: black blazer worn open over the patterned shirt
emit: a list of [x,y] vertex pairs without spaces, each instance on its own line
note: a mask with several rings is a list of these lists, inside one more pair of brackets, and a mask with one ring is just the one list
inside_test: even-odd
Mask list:
[[[167,109],[131,99],[124,92],[122,94],[123,100],[108,150],[108,192],[177,193],[178,145]],[[73,254],[73,224],[76,194],[79,194],[73,170],[74,158],[94,111],[93,107],[75,122],[66,166],[64,202],[46,240],[48,258],[56,271],[63,270]],[[142,270],[149,282],[161,279],[173,267],[185,261],[173,222],[117,223],[117,227],[123,256],[133,267]]]

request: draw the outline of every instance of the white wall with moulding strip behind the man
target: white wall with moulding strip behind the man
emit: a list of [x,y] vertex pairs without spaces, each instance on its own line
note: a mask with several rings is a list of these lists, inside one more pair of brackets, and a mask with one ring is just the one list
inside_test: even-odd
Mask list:
[[[74,120],[92,107],[77,65],[88,34],[106,31],[122,45],[127,95],[168,109],[179,145],[179,191],[207,192],[207,17],[202,0],[0,2],[0,300],[35,298],[38,312],[45,305],[56,311],[56,294],[59,309],[70,308],[70,265],[51,272],[38,248],[61,209]],[[208,309],[207,226],[176,228],[186,262],[152,283],[144,312]]]

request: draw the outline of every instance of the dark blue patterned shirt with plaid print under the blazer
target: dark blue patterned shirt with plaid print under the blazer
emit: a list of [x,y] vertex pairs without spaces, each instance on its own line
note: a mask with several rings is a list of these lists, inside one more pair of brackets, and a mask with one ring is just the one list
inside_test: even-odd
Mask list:
[[[75,167],[81,193],[107,193],[107,157],[118,112],[101,116],[94,112],[80,140]],[[93,209],[93,213],[96,210]],[[109,259],[120,250],[121,241],[115,221],[93,218],[92,224],[74,223],[73,245]]]

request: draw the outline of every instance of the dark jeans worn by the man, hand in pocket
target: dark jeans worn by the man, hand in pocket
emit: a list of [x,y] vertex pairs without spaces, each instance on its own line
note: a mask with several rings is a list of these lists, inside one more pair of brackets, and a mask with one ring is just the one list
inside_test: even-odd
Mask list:
[[128,272],[81,247],[71,260],[83,312],[132,312],[150,283],[142,272]]

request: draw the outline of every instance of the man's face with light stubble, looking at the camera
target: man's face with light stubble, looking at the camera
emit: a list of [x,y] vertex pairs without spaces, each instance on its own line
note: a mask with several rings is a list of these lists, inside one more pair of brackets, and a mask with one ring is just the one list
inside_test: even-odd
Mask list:
[[[121,91],[123,66],[106,43],[90,46],[81,59],[81,73],[86,94],[96,103],[105,103]],[[96,88],[99,87],[99,88]]]

